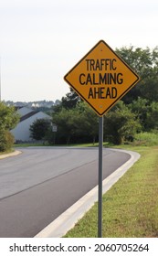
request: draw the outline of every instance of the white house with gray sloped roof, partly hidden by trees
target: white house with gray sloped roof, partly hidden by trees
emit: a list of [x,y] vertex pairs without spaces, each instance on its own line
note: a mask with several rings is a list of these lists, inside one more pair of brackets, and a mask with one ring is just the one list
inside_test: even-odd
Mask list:
[[37,119],[49,119],[51,117],[44,112],[34,111],[27,107],[17,107],[16,112],[20,115],[20,122],[10,132],[14,135],[16,142],[33,142],[30,137],[30,125]]

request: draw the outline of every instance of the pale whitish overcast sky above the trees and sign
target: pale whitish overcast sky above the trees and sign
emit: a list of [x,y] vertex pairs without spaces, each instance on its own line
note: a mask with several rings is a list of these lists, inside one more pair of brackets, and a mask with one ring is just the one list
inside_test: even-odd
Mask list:
[[94,45],[158,46],[157,0],[1,0],[2,101],[56,101]]

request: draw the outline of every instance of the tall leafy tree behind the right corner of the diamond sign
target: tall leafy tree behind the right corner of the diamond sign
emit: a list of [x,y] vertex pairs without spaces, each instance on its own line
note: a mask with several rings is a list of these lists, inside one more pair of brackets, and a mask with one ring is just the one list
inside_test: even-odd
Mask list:
[[132,88],[122,99],[132,103],[138,97],[149,101],[158,101],[158,47],[150,48],[120,48],[118,55],[138,73],[141,81]]

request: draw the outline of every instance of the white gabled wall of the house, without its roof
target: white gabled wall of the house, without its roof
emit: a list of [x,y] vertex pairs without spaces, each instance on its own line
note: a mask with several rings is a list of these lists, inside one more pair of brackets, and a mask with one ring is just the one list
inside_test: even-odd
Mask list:
[[11,133],[15,137],[15,141],[21,141],[21,142],[31,142],[33,139],[30,137],[30,125],[34,123],[37,119],[51,119],[50,116],[48,116],[44,112],[37,112],[36,114],[32,115],[31,117],[27,118],[26,120],[18,123],[16,125],[16,128],[11,130]]

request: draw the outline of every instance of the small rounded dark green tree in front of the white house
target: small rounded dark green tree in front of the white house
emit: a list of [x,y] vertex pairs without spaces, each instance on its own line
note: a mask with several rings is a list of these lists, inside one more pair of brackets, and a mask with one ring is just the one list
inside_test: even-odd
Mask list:
[[37,119],[30,125],[31,137],[37,141],[45,140],[47,133],[51,131],[51,122],[48,119]]

